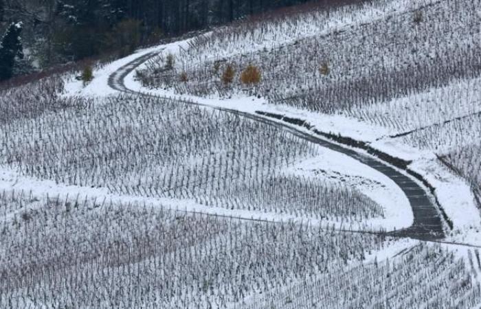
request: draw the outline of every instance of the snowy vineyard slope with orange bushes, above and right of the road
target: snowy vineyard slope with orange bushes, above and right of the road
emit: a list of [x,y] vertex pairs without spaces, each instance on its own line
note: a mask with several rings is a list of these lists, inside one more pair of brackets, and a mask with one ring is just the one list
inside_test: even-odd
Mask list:
[[[414,161],[418,174],[436,174],[454,229],[479,229],[480,5],[386,0],[243,23],[162,52],[137,77],[170,89],[150,93],[288,115]],[[262,72],[254,89],[237,77],[223,83],[223,69],[240,75],[249,63]],[[261,99],[246,102],[253,93]],[[472,190],[453,190],[463,181],[449,174]]]

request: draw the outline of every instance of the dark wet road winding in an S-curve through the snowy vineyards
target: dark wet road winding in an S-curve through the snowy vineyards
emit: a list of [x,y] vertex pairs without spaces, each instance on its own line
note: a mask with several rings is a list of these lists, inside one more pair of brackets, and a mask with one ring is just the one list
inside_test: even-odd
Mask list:
[[[128,89],[124,83],[124,79],[129,73],[139,67],[139,65],[142,65],[142,63],[146,62],[149,58],[155,56],[155,54],[157,53],[158,52],[145,54],[144,56],[140,56],[139,58],[136,58],[135,60],[127,63],[123,67],[120,67],[118,71],[115,71],[111,74],[111,76],[109,76],[109,87],[125,93],[153,96],[148,93],[142,93]],[[205,106],[208,108],[214,108],[216,110],[224,111],[226,113],[234,113],[242,117],[269,124],[270,126],[276,126],[278,128],[281,128],[282,130],[287,130],[289,133],[300,137],[306,141],[310,141],[322,147],[341,152],[344,155],[348,155],[349,157],[352,157],[353,159],[356,159],[357,161],[368,165],[370,168],[373,168],[374,170],[377,170],[392,179],[392,181],[394,181],[394,183],[396,183],[396,185],[398,185],[401,190],[403,190],[412,207],[412,212],[414,214],[414,222],[412,226],[406,229],[401,229],[399,231],[390,232],[388,233],[390,236],[409,237],[419,240],[440,240],[445,237],[445,232],[443,228],[444,225],[443,220],[440,216],[440,212],[438,211],[436,205],[434,205],[434,203],[432,202],[432,198],[429,198],[429,196],[427,195],[427,191],[423,187],[421,187],[421,185],[418,185],[416,181],[410,178],[410,176],[402,174],[395,168],[392,168],[392,166],[390,166],[388,163],[384,163],[383,161],[374,159],[370,155],[364,155],[345,146],[341,146],[331,141],[321,139],[320,137],[313,136],[309,133],[304,132],[303,130],[300,130],[299,128],[296,128],[295,126],[292,126],[291,124],[283,124],[281,122],[276,122],[266,117],[235,111],[229,108],[219,108],[217,106],[197,104],[189,101],[183,102],[188,104]]]

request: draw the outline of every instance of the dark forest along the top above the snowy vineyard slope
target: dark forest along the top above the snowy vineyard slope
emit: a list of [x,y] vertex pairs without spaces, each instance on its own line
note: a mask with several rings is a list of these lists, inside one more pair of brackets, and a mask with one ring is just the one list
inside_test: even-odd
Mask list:
[[[0,0],[0,36],[23,22],[22,43],[36,69],[230,23],[276,8],[342,0]],[[27,60],[23,60],[26,65]],[[18,67],[18,65],[17,65]],[[19,73],[27,69],[16,69]]]

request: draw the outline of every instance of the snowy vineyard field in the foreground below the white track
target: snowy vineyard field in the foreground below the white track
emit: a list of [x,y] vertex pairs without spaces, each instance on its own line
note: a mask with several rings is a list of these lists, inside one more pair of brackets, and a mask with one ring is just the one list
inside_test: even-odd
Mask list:
[[481,301],[478,249],[25,192],[0,194],[0,211],[2,307],[468,308]]

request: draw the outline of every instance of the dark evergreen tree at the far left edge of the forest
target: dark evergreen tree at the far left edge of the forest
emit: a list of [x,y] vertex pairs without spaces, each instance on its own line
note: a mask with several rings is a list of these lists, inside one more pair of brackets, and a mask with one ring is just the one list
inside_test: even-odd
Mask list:
[[23,58],[20,38],[22,23],[12,23],[3,36],[0,45],[0,80],[12,77],[15,58]]

